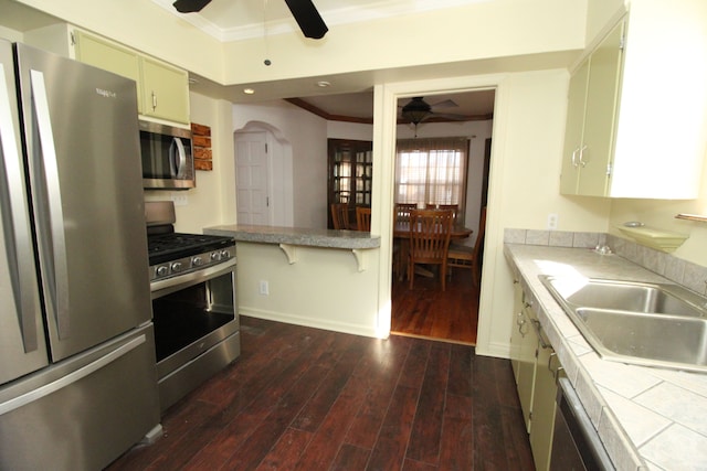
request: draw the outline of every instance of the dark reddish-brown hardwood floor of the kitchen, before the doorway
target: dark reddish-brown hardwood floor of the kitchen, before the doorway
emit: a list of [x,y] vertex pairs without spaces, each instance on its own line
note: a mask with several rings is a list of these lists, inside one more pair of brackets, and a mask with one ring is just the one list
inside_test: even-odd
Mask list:
[[118,470],[532,470],[506,360],[241,319],[242,355]]

